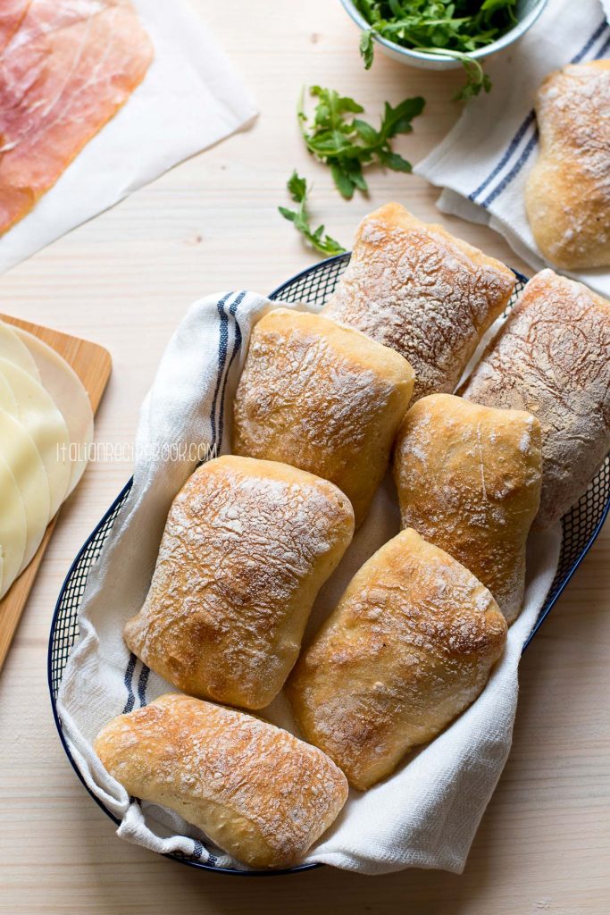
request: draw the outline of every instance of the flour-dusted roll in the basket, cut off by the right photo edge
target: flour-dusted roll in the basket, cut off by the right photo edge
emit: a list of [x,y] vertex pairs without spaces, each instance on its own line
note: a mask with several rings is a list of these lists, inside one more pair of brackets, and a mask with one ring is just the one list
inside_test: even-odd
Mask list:
[[583,495],[610,448],[610,302],[543,270],[463,390],[477,404],[529,410],[542,426],[537,526]]

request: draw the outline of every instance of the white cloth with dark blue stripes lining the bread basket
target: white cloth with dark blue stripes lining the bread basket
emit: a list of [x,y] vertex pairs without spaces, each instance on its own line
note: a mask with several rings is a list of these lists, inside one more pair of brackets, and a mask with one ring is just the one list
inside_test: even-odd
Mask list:
[[[205,457],[201,449],[208,454],[229,450],[230,406],[251,328],[279,305],[284,303],[252,293],[211,296],[191,307],[177,328],[144,401],[134,486],[89,576],[80,641],[58,700],[72,757],[87,787],[121,821],[119,834],[156,852],[180,852],[217,867],[241,866],[176,813],[131,799],[102,768],[91,744],[113,716],[175,692],[130,654],[123,625],[144,602],[167,511],[198,458]],[[359,566],[398,528],[396,494],[387,479],[322,588],[310,630],[336,606]],[[366,794],[351,791],[344,812],[307,861],[366,874],[403,867],[462,870],[508,756],[521,648],[551,586],[560,541],[559,529],[530,538],[525,608],[509,630],[507,650],[483,694],[390,779]],[[282,694],[262,715],[294,729]]]

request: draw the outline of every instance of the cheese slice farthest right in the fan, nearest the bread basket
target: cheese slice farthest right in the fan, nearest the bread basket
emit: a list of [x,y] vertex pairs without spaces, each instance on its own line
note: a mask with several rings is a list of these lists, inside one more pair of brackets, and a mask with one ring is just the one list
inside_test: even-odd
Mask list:
[[66,498],[79,482],[89,461],[93,441],[93,411],[79,376],[56,350],[27,330],[15,328],[36,362],[40,379],[59,407],[70,435],[71,471]]

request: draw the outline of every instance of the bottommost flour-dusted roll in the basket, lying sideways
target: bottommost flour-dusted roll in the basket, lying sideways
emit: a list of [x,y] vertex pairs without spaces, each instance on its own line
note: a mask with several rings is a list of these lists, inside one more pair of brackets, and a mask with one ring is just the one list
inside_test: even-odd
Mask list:
[[266,721],[163,695],[102,729],[95,752],[134,797],[169,807],[251,867],[288,867],[337,817],[343,773]]

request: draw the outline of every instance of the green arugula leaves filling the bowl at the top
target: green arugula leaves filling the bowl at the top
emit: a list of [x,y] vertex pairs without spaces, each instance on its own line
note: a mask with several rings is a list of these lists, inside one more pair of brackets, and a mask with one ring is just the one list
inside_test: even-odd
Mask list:
[[379,35],[404,48],[446,54],[460,60],[466,84],[455,98],[466,99],[491,81],[470,55],[496,41],[517,22],[517,0],[355,0],[370,25],[360,38],[367,70],[373,62],[373,37]]

